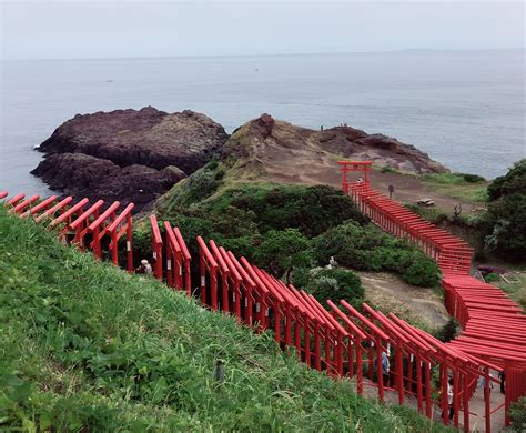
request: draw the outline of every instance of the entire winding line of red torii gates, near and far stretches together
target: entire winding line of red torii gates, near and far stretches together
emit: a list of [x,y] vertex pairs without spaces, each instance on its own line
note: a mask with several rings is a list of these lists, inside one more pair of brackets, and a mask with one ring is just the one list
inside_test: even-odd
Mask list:
[[[305,291],[284,284],[213,240],[205,242],[196,238],[199,262],[192,262],[181,231],[151,215],[154,276],[173,290],[196,296],[212,311],[234,315],[240,324],[251,326],[256,333],[272,332],[275,342],[283,350],[293,350],[300,362],[335,379],[352,379],[358,394],[363,394],[365,387],[376,389],[377,397],[383,401],[387,393],[394,393],[399,404],[408,400],[416,402],[419,413],[435,420],[439,420],[442,412],[444,424],[468,432],[469,415],[473,415],[469,401],[481,376],[485,377],[485,393],[489,395],[489,383],[495,381],[489,372],[506,371],[506,409],[525,393],[525,316],[497,288],[467,275],[465,261],[469,250],[462,241],[437,231],[432,224],[413,232],[407,221],[417,221],[415,215],[399,205],[402,209],[394,209],[395,202],[370,188],[368,162],[342,162],[341,165],[344,192],[364,213],[390,232],[424,248],[441,264],[446,306],[464,329],[455,341],[444,344],[395,314],[384,315],[365,303],[358,311],[358,305],[353,306],[345,300],[328,301],[331,309],[326,310]],[[347,174],[355,170],[363,173],[360,182],[347,180]],[[108,258],[115,265],[124,260],[124,268],[134,272],[133,204],[121,209],[119,202],[104,207],[99,200],[90,205],[88,199],[75,201],[71,197],[62,200],[54,195],[44,200],[38,195],[26,199],[24,194],[8,198],[6,191],[0,191],[0,200],[9,213],[32,218],[55,230],[60,241],[82,251],[90,250],[99,260]],[[398,223],[386,209],[393,209],[391,215],[402,215],[404,222]],[[424,225],[418,222],[417,226]],[[437,241],[443,239],[444,243]],[[488,319],[494,330],[498,326],[498,332],[487,330]],[[383,359],[390,364],[387,376],[378,374],[383,372]],[[447,392],[444,392],[449,380],[454,393],[452,420],[448,419]],[[492,413],[499,409],[492,409],[486,399],[487,432]]]

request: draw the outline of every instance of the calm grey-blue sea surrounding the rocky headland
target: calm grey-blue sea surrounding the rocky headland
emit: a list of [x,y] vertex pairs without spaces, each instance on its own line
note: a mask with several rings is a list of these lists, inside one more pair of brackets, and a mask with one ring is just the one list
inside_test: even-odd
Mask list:
[[[267,112],[346,122],[495,178],[525,158],[525,51],[1,62],[0,189],[49,193],[33,147],[77,113],[191,109],[230,132]],[[336,168],[335,168],[336,170]]]

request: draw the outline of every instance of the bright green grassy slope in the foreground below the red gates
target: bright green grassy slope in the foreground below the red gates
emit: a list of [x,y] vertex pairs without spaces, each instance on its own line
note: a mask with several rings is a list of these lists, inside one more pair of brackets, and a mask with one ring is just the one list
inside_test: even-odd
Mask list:
[[19,427],[443,431],[0,208],[0,429]]

